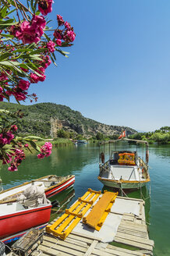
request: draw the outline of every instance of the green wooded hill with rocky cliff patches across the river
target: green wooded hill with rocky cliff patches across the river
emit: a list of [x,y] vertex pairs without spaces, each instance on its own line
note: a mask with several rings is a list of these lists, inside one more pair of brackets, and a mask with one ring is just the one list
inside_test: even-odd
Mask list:
[[34,105],[18,105],[14,103],[0,102],[0,108],[16,112],[23,112],[23,118],[19,119],[19,133],[23,135],[37,135],[42,137],[57,137],[57,130],[62,129],[84,137],[96,136],[103,133],[112,136],[122,133],[126,129],[128,135],[136,133],[126,126],[108,126],[93,119],[88,119],[78,111],[66,105],[55,103],[39,103]]

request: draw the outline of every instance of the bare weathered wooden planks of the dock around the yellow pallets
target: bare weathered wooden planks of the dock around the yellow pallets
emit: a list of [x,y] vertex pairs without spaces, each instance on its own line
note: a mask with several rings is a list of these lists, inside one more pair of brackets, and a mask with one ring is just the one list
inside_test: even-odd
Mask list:
[[[52,234],[44,233],[44,241],[39,245],[38,250],[42,256],[140,256],[153,255],[154,241],[149,239],[147,225],[145,223],[144,201],[140,199],[118,197],[123,200],[137,201],[140,205],[140,214],[111,212],[115,215],[122,215],[121,222],[115,233],[114,241],[116,245],[103,243],[100,238],[87,236],[87,234],[73,231],[61,240]],[[56,220],[56,219],[55,219]],[[55,222],[55,220],[52,223]],[[133,250],[120,247],[133,247]],[[32,256],[37,256],[38,251],[34,251]]]

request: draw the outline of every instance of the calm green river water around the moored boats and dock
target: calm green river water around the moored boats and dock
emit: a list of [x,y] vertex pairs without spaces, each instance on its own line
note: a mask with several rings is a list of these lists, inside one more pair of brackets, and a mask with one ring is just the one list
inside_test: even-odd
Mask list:
[[[127,145],[128,148],[136,149],[136,146]],[[115,149],[115,148],[111,148]],[[117,148],[118,149],[118,148]],[[108,157],[109,148],[101,148]],[[143,158],[143,148],[138,148],[141,158]],[[88,188],[93,190],[102,190],[103,185],[97,180],[99,148],[97,144],[82,144],[73,147],[54,148],[48,158],[37,159],[36,155],[28,155],[27,159],[19,166],[18,172],[9,172],[6,166],[0,171],[3,181],[3,188],[16,186],[27,180],[34,180],[41,176],[55,174],[57,176],[66,176],[74,174],[76,181],[74,190],[69,189],[55,198],[68,208],[70,204],[81,197]],[[143,190],[143,196],[146,199],[145,210],[148,222],[150,239],[154,240],[154,255],[170,255],[170,148],[168,146],[150,146],[150,176],[151,186],[147,185]],[[151,190],[150,190],[151,188]],[[151,191],[151,197],[148,193]],[[129,194],[130,197],[140,197],[140,191]],[[51,219],[56,216],[55,212]]]

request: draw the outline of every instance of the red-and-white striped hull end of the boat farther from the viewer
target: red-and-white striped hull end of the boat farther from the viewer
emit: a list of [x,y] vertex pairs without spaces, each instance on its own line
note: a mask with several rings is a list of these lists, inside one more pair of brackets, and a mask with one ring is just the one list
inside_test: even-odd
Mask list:
[[62,192],[62,190],[66,190],[68,187],[72,186],[73,183],[75,183],[75,176],[60,185],[56,184],[56,186],[51,187],[49,190],[45,190],[46,197],[50,198],[55,196],[55,194],[58,194],[59,192]]

